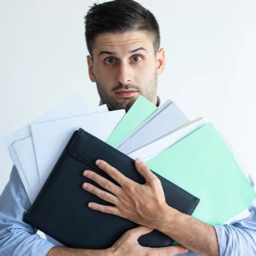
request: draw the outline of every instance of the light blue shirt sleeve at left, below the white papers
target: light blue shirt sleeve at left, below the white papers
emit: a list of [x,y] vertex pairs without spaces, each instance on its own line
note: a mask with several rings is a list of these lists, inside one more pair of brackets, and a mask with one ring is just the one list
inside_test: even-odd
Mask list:
[[15,166],[0,196],[0,255],[46,255],[54,246],[23,222],[31,203]]

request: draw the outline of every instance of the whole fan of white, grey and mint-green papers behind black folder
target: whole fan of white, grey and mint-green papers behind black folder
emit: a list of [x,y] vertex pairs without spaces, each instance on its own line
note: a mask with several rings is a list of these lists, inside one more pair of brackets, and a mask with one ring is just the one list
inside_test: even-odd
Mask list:
[[222,225],[249,216],[256,193],[214,125],[189,121],[170,99],[157,108],[142,96],[125,113],[105,105],[91,110],[76,95],[7,137],[4,146],[31,203],[79,128],[200,198],[193,217]]

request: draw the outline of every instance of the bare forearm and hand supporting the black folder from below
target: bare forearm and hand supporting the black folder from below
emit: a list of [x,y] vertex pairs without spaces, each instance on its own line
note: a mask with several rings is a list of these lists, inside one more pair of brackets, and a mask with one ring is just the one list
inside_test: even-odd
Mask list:
[[160,248],[140,246],[138,243],[138,238],[150,233],[151,231],[151,228],[143,226],[128,230],[109,249],[71,249],[67,247],[54,246],[52,249],[50,249],[47,256],[170,256],[187,252],[187,249],[184,246],[166,246]]

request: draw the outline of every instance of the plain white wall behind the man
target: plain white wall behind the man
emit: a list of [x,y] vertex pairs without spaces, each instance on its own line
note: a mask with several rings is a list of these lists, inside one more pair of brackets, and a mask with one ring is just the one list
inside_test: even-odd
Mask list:
[[[101,2],[101,1],[100,1]],[[256,177],[256,1],[140,1],[159,21],[162,100],[214,123]],[[93,1],[0,1],[0,140],[79,92],[88,78],[83,16]],[[0,193],[12,162],[0,146]]]

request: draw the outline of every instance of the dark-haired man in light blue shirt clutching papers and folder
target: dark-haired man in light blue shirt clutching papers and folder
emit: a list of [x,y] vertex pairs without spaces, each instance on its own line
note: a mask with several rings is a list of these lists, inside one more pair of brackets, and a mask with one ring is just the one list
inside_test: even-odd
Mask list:
[[[140,94],[159,104],[157,75],[165,68],[165,50],[159,50],[159,26],[151,12],[135,1],[94,4],[86,15],[86,43],[90,54],[87,57],[89,77],[96,82],[99,97],[110,110],[129,110]],[[167,206],[158,178],[140,159],[136,159],[135,165],[146,179],[143,185],[122,176],[100,159],[97,165],[121,187],[85,170],[84,176],[111,193],[91,184],[83,184],[83,189],[115,205],[108,207],[91,202],[89,207],[130,219],[142,227],[129,230],[105,250],[54,246],[35,235],[37,230],[23,222],[31,205],[13,167],[0,200],[0,254],[176,255],[189,249],[186,255],[256,255],[256,203],[249,208],[248,218],[233,225],[211,226]],[[243,170],[255,186],[249,173]],[[153,229],[174,238],[182,246],[157,249],[140,246],[138,238]]]

